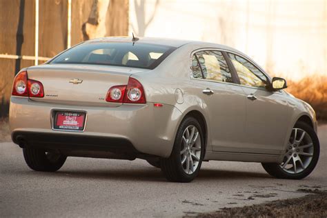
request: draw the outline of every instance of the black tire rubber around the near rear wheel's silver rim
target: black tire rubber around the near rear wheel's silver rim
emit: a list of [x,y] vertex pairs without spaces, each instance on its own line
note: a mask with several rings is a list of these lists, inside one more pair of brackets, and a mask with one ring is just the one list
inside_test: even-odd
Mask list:
[[[181,164],[181,143],[184,130],[186,130],[186,128],[190,125],[195,126],[199,131],[199,137],[201,139],[201,156],[195,172],[192,174],[187,174]],[[199,174],[199,169],[201,168],[202,159],[204,157],[204,146],[204,134],[199,122],[193,117],[186,117],[183,121],[181,121],[181,125],[177,130],[175,143],[170,157],[167,159],[160,159],[161,171],[164,173],[166,179],[168,179],[168,181],[175,182],[190,182],[195,179],[195,177],[197,177]]]

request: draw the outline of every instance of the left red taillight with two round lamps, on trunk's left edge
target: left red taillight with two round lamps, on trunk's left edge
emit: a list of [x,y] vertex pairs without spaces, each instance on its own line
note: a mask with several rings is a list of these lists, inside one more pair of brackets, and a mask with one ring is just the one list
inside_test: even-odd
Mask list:
[[14,78],[12,95],[41,98],[44,97],[43,85],[39,81],[28,79],[27,71],[22,71]]

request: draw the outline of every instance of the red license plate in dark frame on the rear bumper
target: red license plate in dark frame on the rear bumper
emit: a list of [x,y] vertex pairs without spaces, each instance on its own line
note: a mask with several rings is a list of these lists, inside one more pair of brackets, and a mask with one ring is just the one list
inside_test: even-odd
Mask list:
[[55,113],[53,128],[56,130],[83,131],[85,118],[85,112],[58,111]]

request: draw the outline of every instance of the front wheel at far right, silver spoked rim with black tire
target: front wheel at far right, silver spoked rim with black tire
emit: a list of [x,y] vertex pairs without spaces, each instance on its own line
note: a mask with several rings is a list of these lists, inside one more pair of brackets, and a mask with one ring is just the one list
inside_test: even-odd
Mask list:
[[299,122],[292,130],[281,164],[263,163],[264,169],[280,179],[303,179],[315,169],[319,159],[319,139],[312,127]]

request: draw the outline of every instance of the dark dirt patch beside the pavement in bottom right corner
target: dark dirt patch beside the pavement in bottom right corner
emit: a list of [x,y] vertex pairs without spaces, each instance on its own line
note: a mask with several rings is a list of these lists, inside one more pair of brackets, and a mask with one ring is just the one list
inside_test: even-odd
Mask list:
[[221,208],[195,217],[327,217],[327,191],[299,189],[309,195],[237,208]]

